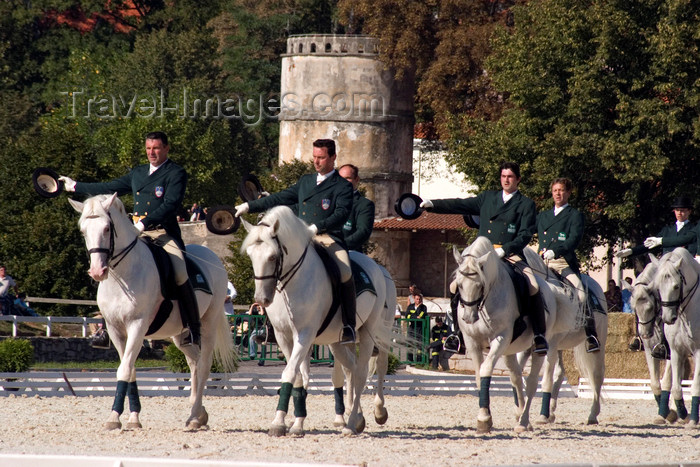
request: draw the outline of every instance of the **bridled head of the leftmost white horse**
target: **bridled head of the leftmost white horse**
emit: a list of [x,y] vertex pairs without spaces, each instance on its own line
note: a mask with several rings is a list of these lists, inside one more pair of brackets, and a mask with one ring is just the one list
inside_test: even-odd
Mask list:
[[88,274],[98,282],[103,281],[108,277],[109,260],[115,248],[115,230],[110,209],[126,217],[124,204],[116,193],[93,196],[84,203],[70,198],[68,202],[81,214],[78,225],[90,254]]

